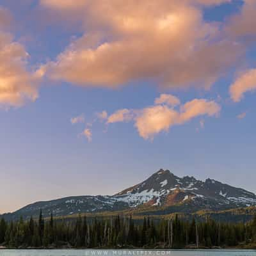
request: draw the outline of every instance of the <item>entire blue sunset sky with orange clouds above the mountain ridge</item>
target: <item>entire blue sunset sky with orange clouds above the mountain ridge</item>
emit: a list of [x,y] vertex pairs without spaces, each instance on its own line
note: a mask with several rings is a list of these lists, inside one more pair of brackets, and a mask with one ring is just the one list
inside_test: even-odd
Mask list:
[[255,0],[1,0],[0,213],[160,168],[256,193]]

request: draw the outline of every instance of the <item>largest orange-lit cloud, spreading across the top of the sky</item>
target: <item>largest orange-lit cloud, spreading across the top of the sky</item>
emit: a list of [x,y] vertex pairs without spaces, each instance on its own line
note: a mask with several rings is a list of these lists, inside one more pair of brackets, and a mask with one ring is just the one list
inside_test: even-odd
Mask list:
[[79,86],[116,88],[154,79],[167,88],[209,88],[242,52],[241,45],[221,36],[216,22],[203,19],[202,5],[225,2],[41,0],[67,19],[80,19],[84,28],[84,35],[42,70]]

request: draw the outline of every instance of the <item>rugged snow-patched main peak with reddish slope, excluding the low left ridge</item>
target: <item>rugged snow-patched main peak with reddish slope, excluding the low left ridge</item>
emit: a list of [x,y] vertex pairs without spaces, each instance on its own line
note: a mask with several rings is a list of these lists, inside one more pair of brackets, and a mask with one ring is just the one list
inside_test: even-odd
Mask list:
[[170,206],[188,201],[237,206],[256,204],[256,195],[244,189],[212,179],[201,181],[188,176],[180,178],[169,170],[159,170],[147,180],[115,196],[130,207],[141,204]]

